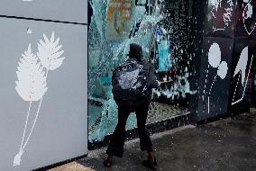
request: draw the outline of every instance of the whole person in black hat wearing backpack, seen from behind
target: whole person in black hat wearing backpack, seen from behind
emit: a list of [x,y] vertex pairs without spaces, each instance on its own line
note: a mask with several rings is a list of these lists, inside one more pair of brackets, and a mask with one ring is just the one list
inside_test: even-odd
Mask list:
[[[114,71],[115,73],[113,75],[113,94],[114,100],[118,105],[118,123],[115,127],[112,139],[110,140],[110,144],[106,150],[106,154],[108,155],[108,157],[106,157],[104,165],[112,166],[113,156],[123,157],[126,121],[129,117],[129,114],[131,112],[135,112],[137,117],[139,138],[141,141],[141,149],[148,152],[148,159],[144,160],[142,164],[143,166],[147,166],[152,170],[156,170],[158,166],[153,153],[151,138],[145,128],[145,124],[148,116],[149,104],[151,101],[151,89],[154,87],[157,88],[158,82],[156,80],[156,76],[154,75],[153,65],[149,63],[145,58],[143,58],[142,47],[135,43],[132,43],[130,45],[129,58],[126,62],[124,62],[124,65],[126,65],[125,63],[128,63],[127,65],[129,65],[129,62],[133,63],[133,61],[134,64],[142,66],[140,67],[141,69],[138,69],[138,72],[134,72],[134,69],[132,68],[133,66],[125,68],[128,70],[125,70],[123,68],[117,68],[117,70]],[[136,70],[136,66],[134,68]],[[116,72],[118,72],[119,74]],[[143,81],[134,81],[135,79],[132,76],[133,74],[137,74],[135,78],[143,76],[142,78],[144,78],[146,81],[145,85],[147,91],[143,91],[141,89],[136,92],[136,88],[145,88],[145,86],[143,86]],[[132,76],[132,78],[130,76]],[[129,95],[129,91],[131,93],[130,97],[127,96],[127,94]],[[146,92],[146,94],[143,94],[144,92]],[[132,95],[135,97],[133,97]]]

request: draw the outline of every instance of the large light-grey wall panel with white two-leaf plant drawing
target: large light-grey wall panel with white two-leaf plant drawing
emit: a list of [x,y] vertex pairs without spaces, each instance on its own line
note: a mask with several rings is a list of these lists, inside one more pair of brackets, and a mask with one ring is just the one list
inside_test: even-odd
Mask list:
[[87,26],[0,23],[0,170],[86,155]]

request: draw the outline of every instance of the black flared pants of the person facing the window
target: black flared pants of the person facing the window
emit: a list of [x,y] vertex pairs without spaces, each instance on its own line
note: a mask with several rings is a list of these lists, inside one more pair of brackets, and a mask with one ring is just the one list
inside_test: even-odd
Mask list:
[[145,128],[149,111],[149,103],[138,104],[118,104],[118,123],[106,150],[106,154],[116,157],[123,157],[123,145],[125,138],[125,125],[131,112],[136,113],[137,127],[141,141],[141,149],[153,151],[151,138]]

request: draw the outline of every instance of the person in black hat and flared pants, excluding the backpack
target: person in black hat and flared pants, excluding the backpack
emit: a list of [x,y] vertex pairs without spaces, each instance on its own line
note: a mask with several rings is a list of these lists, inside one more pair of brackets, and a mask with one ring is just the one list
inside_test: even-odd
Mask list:
[[141,149],[148,152],[148,159],[144,160],[142,164],[151,168],[152,170],[157,169],[156,157],[153,152],[153,147],[151,143],[151,138],[149,132],[145,128],[149,105],[151,101],[151,89],[157,88],[159,83],[154,74],[153,65],[148,62],[142,56],[142,47],[138,44],[130,44],[129,58],[127,60],[141,63],[145,69],[147,69],[148,77],[148,88],[150,89],[149,93],[140,100],[140,102],[128,102],[122,100],[115,100],[118,105],[118,123],[110,140],[110,144],[106,150],[107,157],[105,158],[104,165],[112,166],[113,156],[123,157],[123,145],[125,138],[125,125],[128,119],[128,116],[131,112],[136,113],[137,117],[137,127],[139,138],[141,141]]

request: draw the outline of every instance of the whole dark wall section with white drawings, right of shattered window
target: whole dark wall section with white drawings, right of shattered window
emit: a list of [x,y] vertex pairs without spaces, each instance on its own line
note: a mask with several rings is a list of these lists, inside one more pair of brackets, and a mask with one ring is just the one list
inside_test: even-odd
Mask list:
[[[225,112],[249,110],[255,65],[256,0],[207,0],[205,9],[197,121]],[[212,64],[209,54],[215,58]],[[209,85],[209,77],[215,76],[213,73],[219,67],[219,56],[226,58],[227,75],[221,81],[216,76],[216,83]],[[213,89],[210,91],[207,86]]]

